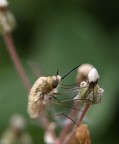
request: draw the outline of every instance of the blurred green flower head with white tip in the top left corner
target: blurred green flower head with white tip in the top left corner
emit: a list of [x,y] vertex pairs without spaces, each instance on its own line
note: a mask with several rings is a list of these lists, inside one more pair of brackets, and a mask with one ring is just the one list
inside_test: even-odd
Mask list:
[[8,2],[0,0],[0,32],[11,32],[16,27],[13,14],[8,10]]

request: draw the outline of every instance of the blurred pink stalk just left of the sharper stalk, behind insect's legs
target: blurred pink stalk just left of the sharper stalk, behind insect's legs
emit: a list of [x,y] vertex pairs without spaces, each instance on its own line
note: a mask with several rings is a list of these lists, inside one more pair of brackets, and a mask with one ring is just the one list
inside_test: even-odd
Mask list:
[[[79,104],[80,104],[80,101],[74,101],[74,106],[73,107],[79,107]],[[74,118],[75,116],[77,115],[77,110],[75,109],[72,109],[69,116],[71,118]],[[59,136],[59,144],[62,143],[62,141],[65,139],[66,135],[67,135],[67,132],[69,131],[69,129],[71,128],[72,126],[72,122],[69,121],[69,119],[67,119],[67,124],[66,126],[63,128],[63,130],[61,131],[60,133],[60,136]]]

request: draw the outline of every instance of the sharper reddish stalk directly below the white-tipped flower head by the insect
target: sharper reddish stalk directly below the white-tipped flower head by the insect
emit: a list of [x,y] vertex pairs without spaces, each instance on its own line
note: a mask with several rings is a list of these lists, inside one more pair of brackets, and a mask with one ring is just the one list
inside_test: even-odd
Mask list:
[[[79,117],[79,119],[78,119],[78,121],[77,121],[77,125],[78,125],[78,126],[81,124],[81,122],[82,122],[82,120],[83,120],[86,112],[88,111],[89,107],[90,107],[90,104],[88,104],[88,103],[86,103],[86,104],[83,106],[83,110],[82,110],[81,115],[80,115],[80,117]],[[77,129],[77,126],[75,126],[75,127],[73,128],[73,131],[71,132],[70,136],[68,136],[68,138],[66,138],[66,140],[63,142],[63,144],[70,144],[72,138],[75,136],[76,129]]]

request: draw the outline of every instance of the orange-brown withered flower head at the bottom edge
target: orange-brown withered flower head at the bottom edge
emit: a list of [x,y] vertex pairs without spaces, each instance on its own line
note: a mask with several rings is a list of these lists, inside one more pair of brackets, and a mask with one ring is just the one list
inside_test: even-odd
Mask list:
[[90,133],[86,124],[81,124],[79,127],[77,127],[71,144],[91,144]]

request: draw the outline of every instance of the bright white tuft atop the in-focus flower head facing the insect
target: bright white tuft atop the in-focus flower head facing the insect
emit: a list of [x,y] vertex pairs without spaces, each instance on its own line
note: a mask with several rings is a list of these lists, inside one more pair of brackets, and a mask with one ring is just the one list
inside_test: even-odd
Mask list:
[[89,74],[88,74],[88,81],[90,82],[96,82],[99,79],[98,72],[95,68],[93,68]]

